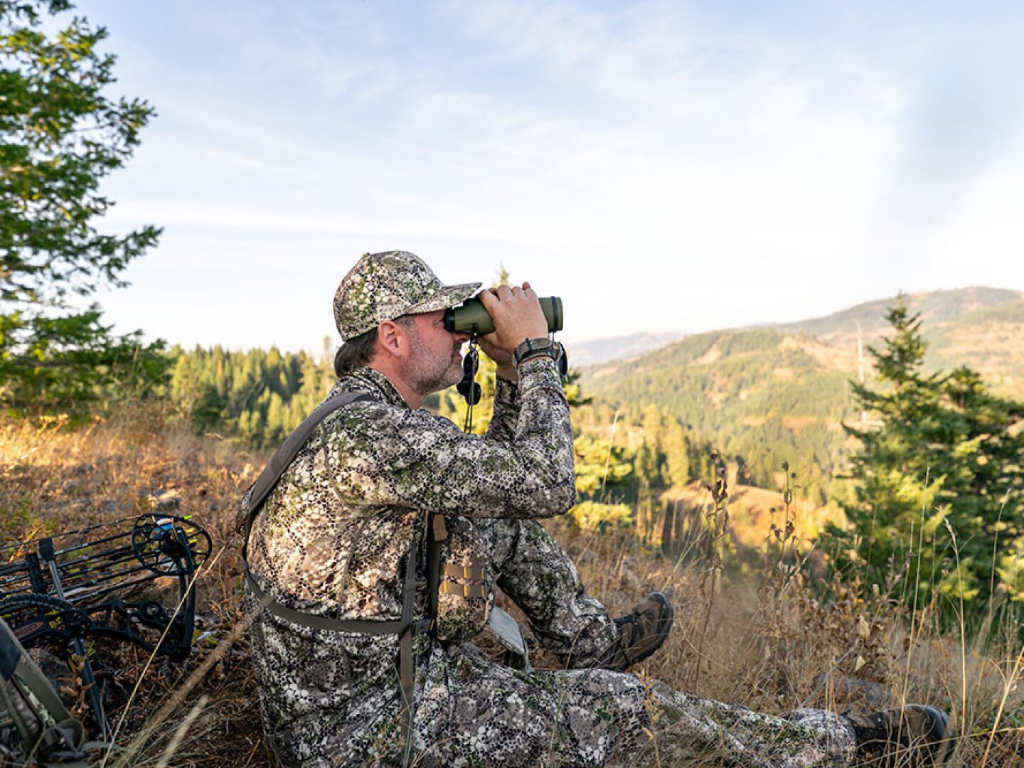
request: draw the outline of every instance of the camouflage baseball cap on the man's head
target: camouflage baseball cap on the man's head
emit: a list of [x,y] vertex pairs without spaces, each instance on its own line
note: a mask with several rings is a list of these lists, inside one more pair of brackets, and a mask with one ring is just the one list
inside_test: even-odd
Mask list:
[[384,321],[447,309],[479,288],[479,283],[441,285],[423,259],[408,251],[366,253],[334,294],[334,322],[342,341],[348,341]]

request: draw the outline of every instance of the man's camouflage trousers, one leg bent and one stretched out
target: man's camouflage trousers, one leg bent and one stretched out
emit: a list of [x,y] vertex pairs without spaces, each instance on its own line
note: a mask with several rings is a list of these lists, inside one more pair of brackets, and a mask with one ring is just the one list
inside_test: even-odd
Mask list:
[[438,644],[420,670],[414,764],[423,766],[844,766],[854,736],[838,715],[774,717],[635,675],[583,669],[617,629],[568,556],[536,522],[477,523],[498,584],[535,635],[566,660],[520,672],[465,644]]

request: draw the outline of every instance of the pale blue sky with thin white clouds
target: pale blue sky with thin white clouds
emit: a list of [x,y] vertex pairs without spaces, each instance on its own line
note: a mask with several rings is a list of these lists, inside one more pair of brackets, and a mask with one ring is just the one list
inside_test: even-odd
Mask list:
[[504,266],[571,343],[1024,290],[1015,2],[80,0],[157,112],[118,331],[322,348],[365,252]]

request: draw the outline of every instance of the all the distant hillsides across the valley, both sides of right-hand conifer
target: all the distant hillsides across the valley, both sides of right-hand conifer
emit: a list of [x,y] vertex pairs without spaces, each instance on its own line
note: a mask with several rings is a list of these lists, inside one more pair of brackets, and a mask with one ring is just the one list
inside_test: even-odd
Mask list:
[[[844,467],[842,424],[862,418],[851,397],[863,345],[888,327],[887,300],[771,328],[691,336],[626,360],[582,369],[595,401],[636,421],[648,406],[739,464],[740,477],[776,487],[782,461],[823,501]],[[969,365],[996,393],[1024,387],[1024,301],[1015,291],[969,288],[908,297],[928,342],[925,370]],[[873,377],[864,355],[865,380]]]

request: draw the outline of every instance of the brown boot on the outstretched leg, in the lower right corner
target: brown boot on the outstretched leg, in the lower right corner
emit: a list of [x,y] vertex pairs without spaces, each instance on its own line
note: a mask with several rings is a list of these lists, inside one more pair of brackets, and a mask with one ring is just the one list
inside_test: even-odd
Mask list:
[[949,716],[938,707],[907,705],[847,720],[857,734],[857,759],[880,768],[940,766],[956,739]]

